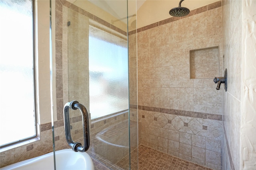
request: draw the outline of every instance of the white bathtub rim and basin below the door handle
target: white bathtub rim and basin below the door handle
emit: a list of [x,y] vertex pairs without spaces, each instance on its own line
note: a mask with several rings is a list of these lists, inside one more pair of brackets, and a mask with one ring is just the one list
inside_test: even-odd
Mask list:
[[[94,170],[92,159],[86,152],[58,150],[55,158],[56,170]],[[5,166],[1,170],[54,170],[53,152]]]

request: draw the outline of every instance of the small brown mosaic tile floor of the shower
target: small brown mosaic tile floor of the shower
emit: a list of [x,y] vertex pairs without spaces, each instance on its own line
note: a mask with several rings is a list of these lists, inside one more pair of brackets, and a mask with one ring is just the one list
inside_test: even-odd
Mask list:
[[[129,164],[127,162],[129,156],[126,156],[116,164],[112,165],[108,160],[104,160],[99,155],[89,152],[92,156],[95,170],[128,170]],[[158,150],[140,145],[138,148],[138,166],[136,164],[136,150],[131,153],[131,169],[136,170],[212,170],[210,168],[194,164],[192,162],[162,153]]]

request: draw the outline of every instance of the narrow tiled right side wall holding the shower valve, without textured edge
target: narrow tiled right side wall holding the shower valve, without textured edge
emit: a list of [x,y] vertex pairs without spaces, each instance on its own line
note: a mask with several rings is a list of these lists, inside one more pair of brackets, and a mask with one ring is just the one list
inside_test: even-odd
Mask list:
[[[240,169],[241,121],[241,45],[242,1],[223,1],[224,68],[228,71],[228,88],[223,93],[223,156],[222,169]],[[236,12],[232,12],[236,9]],[[235,51],[233,51],[235,50]]]

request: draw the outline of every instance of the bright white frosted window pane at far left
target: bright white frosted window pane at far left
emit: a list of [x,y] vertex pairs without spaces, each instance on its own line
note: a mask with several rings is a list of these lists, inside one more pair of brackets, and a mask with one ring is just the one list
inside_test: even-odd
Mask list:
[[36,135],[33,2],[0,0],[0,145]]

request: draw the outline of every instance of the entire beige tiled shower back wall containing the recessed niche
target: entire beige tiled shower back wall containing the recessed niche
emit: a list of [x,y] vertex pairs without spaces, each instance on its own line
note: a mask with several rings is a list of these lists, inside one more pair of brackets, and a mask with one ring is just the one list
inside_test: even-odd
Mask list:
[[[137,29],[140,144],[217,170],[222,90],[213,79],[223,74],[221,6],[219,1]],[[200,72],[193,76],[195,57]]]

